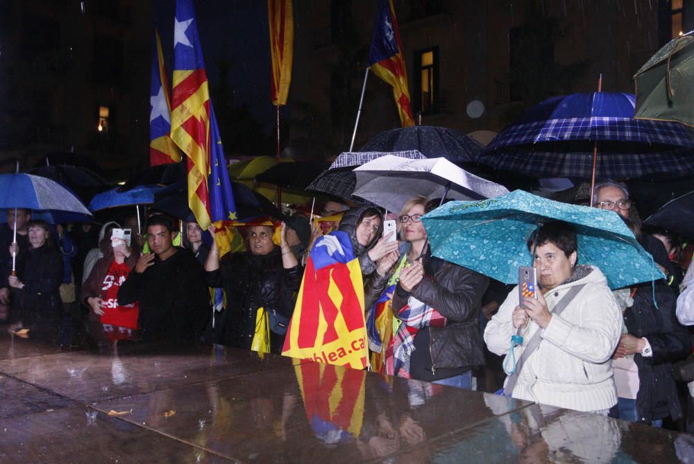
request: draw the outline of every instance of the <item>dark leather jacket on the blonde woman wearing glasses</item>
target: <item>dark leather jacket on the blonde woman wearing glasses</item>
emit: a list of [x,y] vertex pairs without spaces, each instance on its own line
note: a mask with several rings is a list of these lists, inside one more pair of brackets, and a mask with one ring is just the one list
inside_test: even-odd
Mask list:
[[[398,284],[393,295],[393,311],[404,307],[411,294],[446,317],[446,327],[428,328],[429,357],[432,363],[428,368],[432,371],[437,368],[459,370],[481,366],[484,364],[484,350],[477,324],[480,320],[482,295],[489,286],[489,278],[432,257],[430,252],[422,259],[425,277],[414,286],[412,293],[407,293]],[[416,338],[414,343],[416,347]],[[412,370],[414,367],[412,366]]]

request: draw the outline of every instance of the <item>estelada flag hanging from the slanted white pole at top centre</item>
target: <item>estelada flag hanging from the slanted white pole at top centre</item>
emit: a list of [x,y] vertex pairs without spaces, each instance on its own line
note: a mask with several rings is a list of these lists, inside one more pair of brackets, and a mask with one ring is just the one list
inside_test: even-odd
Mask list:
[[393,0],[381,0],[378,3],[371,51],[369,51],[369,67],[373,74],[393,87],[393,96],[398,105],[403,127],[414,126],[412,108],[409,105],[409,89],[407,89],[407,69],[405,69],[403,45],[400,43],[400,31],[393,9]]

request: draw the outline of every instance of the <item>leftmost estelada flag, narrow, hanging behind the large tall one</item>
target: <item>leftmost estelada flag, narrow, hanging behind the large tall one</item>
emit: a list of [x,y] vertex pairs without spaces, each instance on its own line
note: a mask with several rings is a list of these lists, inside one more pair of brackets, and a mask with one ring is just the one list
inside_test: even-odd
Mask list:
[[152,80],[149,95],[149,164],[175,163],[180,161],[180,150],[171,140],[171,101],[169,80],[164,67],[164,55],[159,32],[154,31],[156,49],[152,53]]

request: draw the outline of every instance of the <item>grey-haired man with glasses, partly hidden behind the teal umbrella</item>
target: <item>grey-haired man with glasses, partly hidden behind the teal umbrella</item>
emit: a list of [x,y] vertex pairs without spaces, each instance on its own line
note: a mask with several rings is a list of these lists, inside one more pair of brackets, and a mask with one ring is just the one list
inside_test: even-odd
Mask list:
[[[619,214],[666,274],[667,282],[672,282],[674,269],[663,243],[641,233],[629,220],[632,202],[624,184],[611,180],[597,184],[593,205]],[[689,352],[688,333],[675,319],[675,294],[662,280],[613,293],[618,296],[620,292],[629,295],[618,298],[627,333],[612,356],[618,403],[610,415],[661,427],[668,415],[672,420],[682,415],[671,363]]]

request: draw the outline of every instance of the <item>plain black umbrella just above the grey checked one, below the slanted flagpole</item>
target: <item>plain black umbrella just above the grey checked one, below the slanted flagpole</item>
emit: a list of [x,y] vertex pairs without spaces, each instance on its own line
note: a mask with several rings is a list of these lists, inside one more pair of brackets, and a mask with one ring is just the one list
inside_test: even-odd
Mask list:
[[381,132],[359,151],[417,150],[428,158],[444,157],[455,164],[474,163],[484,150],[480,142],[459,130],[412,126]]

